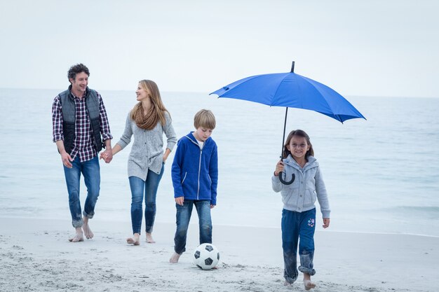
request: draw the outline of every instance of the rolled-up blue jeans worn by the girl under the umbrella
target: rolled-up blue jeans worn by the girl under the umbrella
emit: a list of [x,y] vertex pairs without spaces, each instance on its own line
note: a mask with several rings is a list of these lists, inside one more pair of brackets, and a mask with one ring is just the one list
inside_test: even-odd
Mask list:
[[288,283],[296,281],[297,242],[299,242],[299,271],[316,274],[313,269],[314,231],[316,230],[316,208],[302,213],[282,210],[282,248],[285,270],[283,277]]

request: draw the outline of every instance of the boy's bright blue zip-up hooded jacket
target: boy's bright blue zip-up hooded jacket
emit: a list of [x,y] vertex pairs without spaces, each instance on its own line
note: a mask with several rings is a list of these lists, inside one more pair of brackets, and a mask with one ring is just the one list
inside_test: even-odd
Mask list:
[[173,167],[174,197],[217,204],[218,153],[211,137],[200,148],[192,132],[177,143]]

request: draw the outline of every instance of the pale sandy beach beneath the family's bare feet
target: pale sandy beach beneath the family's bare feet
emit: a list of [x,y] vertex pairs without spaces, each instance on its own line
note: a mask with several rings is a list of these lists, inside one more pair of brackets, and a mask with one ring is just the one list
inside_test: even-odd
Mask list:
[[[174,224],[156,223],[155,244],[126,244],[129,222],[90,221],[93,239],[71,243],[68,221],[0,218],[0,291],[304,291],[283,286],[281,230],[214,224],[217,270],[170,264]],[[437,291],[439,238],[316,232],[313,291]],[[299,275],[301,277],[301,275]]]

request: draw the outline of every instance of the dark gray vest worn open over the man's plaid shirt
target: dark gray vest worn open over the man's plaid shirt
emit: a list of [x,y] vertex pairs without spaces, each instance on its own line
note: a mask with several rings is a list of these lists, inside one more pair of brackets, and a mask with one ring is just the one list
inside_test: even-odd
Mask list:
[[[72,90],[72,85],[69,86],[69,89],[60,93],[64,148],[69,154],[72,152],[76,124],[76,105],[70,90]],[[97,98],[96,91],[86,88],[85,99],[88,118],[90,118],[90,125],[93,132],[93,141],[95,142],[93,146],[95,146],[96,151],[99,152],[102,150],[103,144],[100,135],[99,99]]]

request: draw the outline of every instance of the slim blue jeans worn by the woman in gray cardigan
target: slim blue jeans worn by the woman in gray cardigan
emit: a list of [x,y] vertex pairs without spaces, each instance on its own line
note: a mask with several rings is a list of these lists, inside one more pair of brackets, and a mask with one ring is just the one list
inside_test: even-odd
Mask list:
[[144,218],[145,231],[151,233],[154,228],[156,219],[156,195],[158,183],[165,170],[164,164],[161,167],[160,174],[148,170],[147,180],[143,181],[137,176],[130,176],[131,188],[131,225],[133,225],[133,234],[139,233],[142,228],[142,204],[145,202]]

